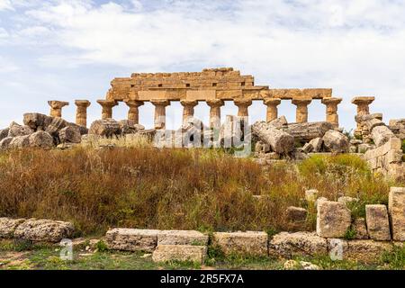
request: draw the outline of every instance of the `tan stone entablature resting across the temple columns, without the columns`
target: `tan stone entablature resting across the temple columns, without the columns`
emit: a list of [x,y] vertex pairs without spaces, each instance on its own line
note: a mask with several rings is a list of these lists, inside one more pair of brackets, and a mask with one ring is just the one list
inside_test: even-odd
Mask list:
[[133,73],[130,77],[114,78],[111,85],[106,99],[112,101],[323,99],[332,96],[332,89],[269,89],[266,85],[255,85],[253,76],[240,75],[231,67],[203,69],[202,72]]

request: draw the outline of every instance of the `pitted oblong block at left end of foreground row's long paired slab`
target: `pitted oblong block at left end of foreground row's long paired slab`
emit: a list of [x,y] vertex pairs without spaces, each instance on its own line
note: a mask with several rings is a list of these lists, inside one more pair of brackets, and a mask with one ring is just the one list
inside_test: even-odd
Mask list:
[[113,250],[153,252],[159,232],[154,229],[116,228],[107,231],[105,240]]

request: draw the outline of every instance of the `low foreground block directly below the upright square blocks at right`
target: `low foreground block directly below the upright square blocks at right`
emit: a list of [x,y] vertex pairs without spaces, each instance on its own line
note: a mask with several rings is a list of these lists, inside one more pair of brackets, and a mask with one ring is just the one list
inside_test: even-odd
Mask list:
[[[333,244],[332,244],[333,243]],[[337,245],[338,243],[338,245]],[[374,264],[381,261],[384,252],[392,251],[391,242],[374,240],[328,239],[329,251],[335,251],[338,260]]]

